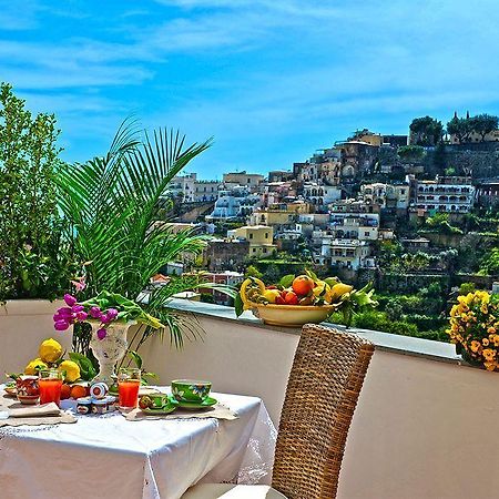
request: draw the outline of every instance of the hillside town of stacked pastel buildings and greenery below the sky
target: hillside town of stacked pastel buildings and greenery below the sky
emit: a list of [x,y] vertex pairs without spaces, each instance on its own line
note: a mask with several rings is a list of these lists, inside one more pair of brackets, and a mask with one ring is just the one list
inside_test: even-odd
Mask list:
[[[438,315],[452,287],[491,288],[499,273],[497,118],[455,114],[445,130],[425,116],[407,135],[358,130],[268,175],[180,175],[163,202],[169,226],[205,233],[208,246],[155,284],[194,267],[230,285],[248,272],[276,281],[313,268],[373,282],[381,296],[429,289]],[[197,299],[230,304],[217,293]]]

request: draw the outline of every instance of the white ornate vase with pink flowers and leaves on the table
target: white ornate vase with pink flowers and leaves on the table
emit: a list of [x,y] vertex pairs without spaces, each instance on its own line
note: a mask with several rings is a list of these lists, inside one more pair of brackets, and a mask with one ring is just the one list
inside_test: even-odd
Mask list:
[[54,328],[65,330],[77,323],[89,323],[92,326],[90,346],[100,367],[95,380],[110,385],[113,383],[114,366],[126,353],[129,328],[135,324],[145,324],[154,329],[165,327],[135,302],[116,293],[102,291],[81,303],[67,294],[64,302],[68,306],[59,308],[53,316]]

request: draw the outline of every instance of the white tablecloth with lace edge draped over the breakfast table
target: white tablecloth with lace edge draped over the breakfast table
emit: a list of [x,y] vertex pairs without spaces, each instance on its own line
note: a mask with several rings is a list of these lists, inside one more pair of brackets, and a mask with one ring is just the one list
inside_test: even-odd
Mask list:
[[176,499],[200,480],[269,483],[276,431],[262,400],[214,397],[238,419],[126,421],[114,413],[0,429],[0,497]]

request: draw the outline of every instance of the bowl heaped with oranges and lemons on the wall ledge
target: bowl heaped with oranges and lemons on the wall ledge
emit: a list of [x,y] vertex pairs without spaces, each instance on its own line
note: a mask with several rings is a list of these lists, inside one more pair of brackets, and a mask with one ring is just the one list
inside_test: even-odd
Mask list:
[[298,276],[286,275],[269,286],[256,277],[248,277],[241,285],[235,308],[237,315],[251,309],[265,324],[301,327],[307,323],[322,323],[335,310],[352,317],[358,305],[375,306],[369,288],[356,291],[337,277],[319,279],[309,271]]

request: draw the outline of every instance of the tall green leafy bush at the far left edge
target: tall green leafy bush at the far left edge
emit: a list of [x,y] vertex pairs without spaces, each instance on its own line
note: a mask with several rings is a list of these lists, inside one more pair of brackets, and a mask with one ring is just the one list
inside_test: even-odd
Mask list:
[[0,86],[0,301],[53,299],[78,269],[57,208],[61,164],[52,114],[35,116],[12,88]]

